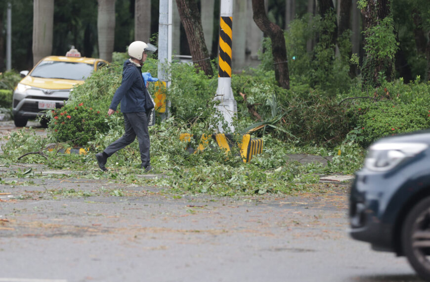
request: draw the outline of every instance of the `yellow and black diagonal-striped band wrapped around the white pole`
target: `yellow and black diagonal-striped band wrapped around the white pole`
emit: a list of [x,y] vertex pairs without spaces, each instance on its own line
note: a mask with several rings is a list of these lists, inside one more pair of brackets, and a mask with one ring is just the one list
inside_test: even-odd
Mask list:
[[231,77],[232,27],[232,17],[220,17],[218,77]]

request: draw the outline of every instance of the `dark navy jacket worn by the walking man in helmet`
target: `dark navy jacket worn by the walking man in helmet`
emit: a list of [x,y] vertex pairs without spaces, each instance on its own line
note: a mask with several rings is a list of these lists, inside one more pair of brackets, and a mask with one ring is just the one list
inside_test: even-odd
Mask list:
[[123,80],[112,98],[110,109],[114,111],[121,102],[121,112],[145,112],[146,86],[143,84],[142,68],[128,59],[124,62]]

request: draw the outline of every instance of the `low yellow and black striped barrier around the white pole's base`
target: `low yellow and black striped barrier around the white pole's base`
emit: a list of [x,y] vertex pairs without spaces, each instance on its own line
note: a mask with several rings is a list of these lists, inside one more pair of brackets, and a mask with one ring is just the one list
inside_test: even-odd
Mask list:
[[[183,142],[190,142],[193,136],[189,133],[182,133],[179,136],[179,140]],[[209,146],[209,139],[212,138],[216,141],[218,147],[222,148],[226,153],[230,152],[230,146],[234,145],[234,141],[230,135],[225,135],[223,133],[213,134],[212,136],[202,135],[199,146],[196,150],[185,148],[189,152],[196,153],[197,151],[203,151]],[[252,139],[251,135],[245,134],[242,137],[242,142],[237,144],[240,149],[240,155],[244,162],[250,162],[253,156],[262,153],[263,150],[263,140],[262,139]]]

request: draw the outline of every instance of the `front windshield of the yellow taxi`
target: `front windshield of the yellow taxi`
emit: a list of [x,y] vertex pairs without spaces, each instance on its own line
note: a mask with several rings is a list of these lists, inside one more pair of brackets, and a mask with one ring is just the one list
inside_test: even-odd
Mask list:
[[85,80],[94,67],[86,63],[42,61],[30,74],[33,77]]

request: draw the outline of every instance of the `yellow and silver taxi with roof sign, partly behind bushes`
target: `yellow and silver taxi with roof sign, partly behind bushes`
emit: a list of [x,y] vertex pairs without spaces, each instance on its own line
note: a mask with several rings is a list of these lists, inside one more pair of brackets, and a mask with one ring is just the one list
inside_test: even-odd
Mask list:
[[61,108],[75,85],[83,84],[93,71],[107,61],[81,57],[72,47],[66,56],[44,57],[30,72],[21,71],[23,79],[13,92],[12,112],[15,126],[27,125],[29,119]]

